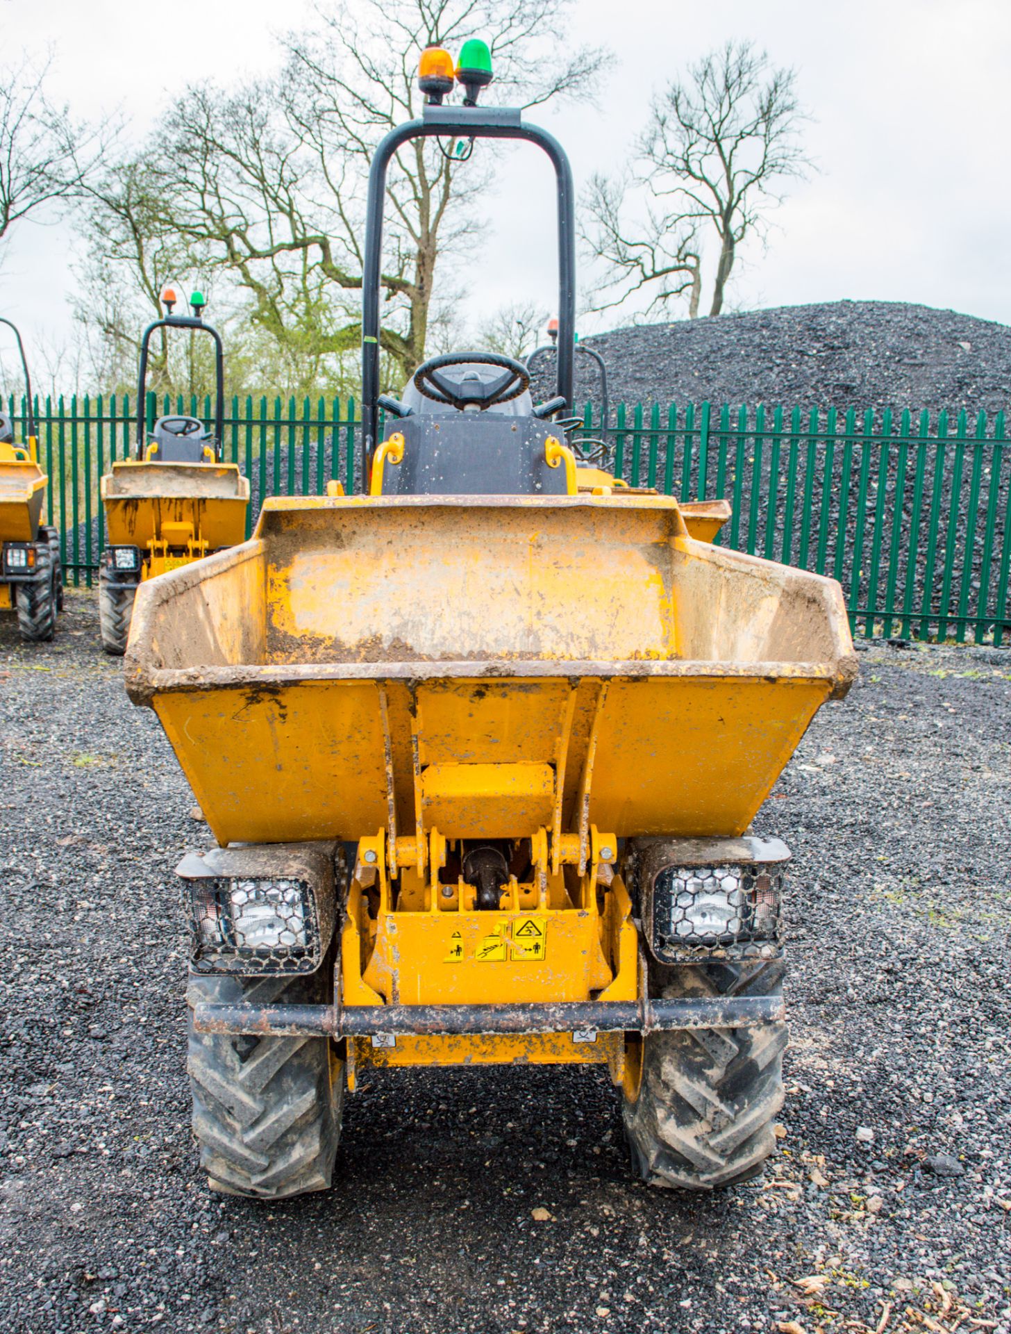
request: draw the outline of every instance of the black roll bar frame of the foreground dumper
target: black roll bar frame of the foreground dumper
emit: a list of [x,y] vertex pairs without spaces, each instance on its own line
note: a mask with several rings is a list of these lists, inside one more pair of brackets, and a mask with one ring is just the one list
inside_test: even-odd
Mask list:
[[391,129],[379,143],[368,173],[365,203],[365,259],[361,272],[361,468],[368,470],[379,436],[380,277],[383,204],[387,168],[399,148],[412,139],[522,139],[543,148],[555,168],[559,252],[558,394],[572,410],[572,372],[576,336],[576,224],[572,168],[562,144],[539,125],[524,124],[515,107],[425,105],[420,120]]

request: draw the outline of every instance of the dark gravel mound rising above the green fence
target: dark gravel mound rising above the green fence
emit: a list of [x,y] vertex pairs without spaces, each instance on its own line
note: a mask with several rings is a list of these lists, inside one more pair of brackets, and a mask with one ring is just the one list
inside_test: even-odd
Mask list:
[[[607,362],[612,403],[784,403],[804,410],[930,408],[971,418],[1011,408],[1011,328],[906,301],[782,305],[587,339]],[[576,358],[578,402],[598,403]],[[547,387],[550,376],[538,384]]]

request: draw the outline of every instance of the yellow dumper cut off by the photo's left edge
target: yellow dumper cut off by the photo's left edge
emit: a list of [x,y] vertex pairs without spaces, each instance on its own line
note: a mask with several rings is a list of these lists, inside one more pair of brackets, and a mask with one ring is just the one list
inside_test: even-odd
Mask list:
[[21,335],[11,320],[25,383],[24,442],[15,444],[13,422],[0,412],[0,611],[17,614],[17,628],[29,643],[52,639],[63,607],[60,535],[43,520],[48,478],[39,463],[39,435],[32,380]]

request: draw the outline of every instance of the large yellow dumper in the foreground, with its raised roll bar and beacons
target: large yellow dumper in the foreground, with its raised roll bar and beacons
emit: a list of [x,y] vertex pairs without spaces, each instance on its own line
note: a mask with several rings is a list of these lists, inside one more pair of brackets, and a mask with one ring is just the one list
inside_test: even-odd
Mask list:
[[[423,80],[445,88],[444,55]],[[468,43],[464,87],[483,61]],[[137,595],[127,688],[217,843],[179,867],[201,1162],[219,1191],[320,1190],[369,1070],[576,1062],[620,1090],[648,1182],[726,1186],[772,1147],[787,1045],[790,854],[750,826],[852,680],[842,592],[691,536],[670,496],[580,488],[552,420],[572,411],[568,161],[519,111],[425,81],[369,180],[368,494],[268,500],[252,540]],[[429,136],[554,164],[547,403],[477,352],[379,394],[385,169]]]

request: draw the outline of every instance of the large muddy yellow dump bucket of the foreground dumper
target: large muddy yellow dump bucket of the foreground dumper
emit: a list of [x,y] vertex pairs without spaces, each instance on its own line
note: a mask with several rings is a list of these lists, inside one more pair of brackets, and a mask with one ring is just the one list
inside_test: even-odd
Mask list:
[[127,652],[220,843],[739,835],[855,670],[834,580],[667,496],[268,500]]

